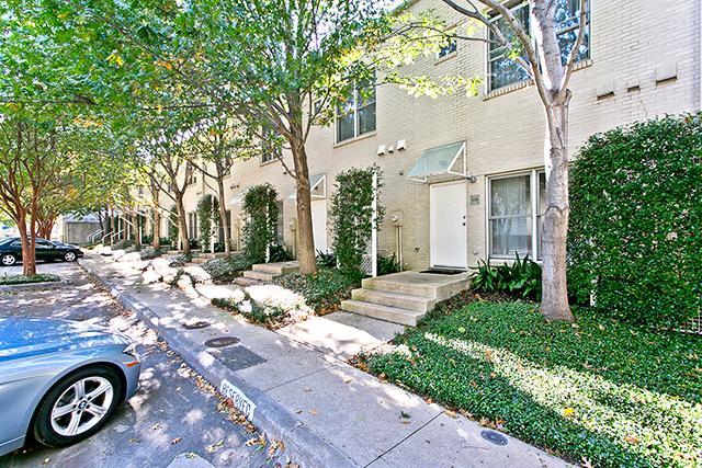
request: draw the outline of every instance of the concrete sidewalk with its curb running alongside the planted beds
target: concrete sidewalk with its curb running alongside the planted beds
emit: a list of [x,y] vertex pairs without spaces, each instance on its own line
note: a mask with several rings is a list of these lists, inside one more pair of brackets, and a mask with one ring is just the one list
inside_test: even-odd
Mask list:
[[[302,466],[566,466],[513,437],[506,436],[506,445],[488,442],[480,435],[484,427],[477,423],[452,416],[438,404],[346,364],[343,358],[359,346],[353,342],[355,336],[351,336],[352,328],[344,328],[348,326],[329,328],[350,333],[346,341],[315,333],[324,320],[316,317],[273,332],[210,305],[212,295],[230,294],[230,287],[180,290],[162,283],[144,285],[138,269],[98,256],[81,260],[81,265],[123,305],[143,315],[216,387],[220,388],[226,379],[236,387],[235,392],[244,393],[242,400],[256,407],[253,424],[269,440],[283,441],[287,455]],[[195,320],[211,326],[199,330],[182,328],[183,322]],[[389,331],[381,331],[380,335],[386,339]],[[222,335],[236,336],[240,342],[222,349],[204,345]],[[377,342],[372,333],[366,338],[367,342],[361,345]]]

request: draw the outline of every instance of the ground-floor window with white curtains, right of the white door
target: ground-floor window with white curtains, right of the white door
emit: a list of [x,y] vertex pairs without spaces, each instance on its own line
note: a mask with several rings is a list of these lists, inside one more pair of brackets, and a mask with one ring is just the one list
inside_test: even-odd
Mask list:
[[[541,259],[546,176],[530,171],[488,180],[488,237],[491,258]],[[536,236],[534,236],[534,232]],[[535,237],[535,239],[534,239]]]

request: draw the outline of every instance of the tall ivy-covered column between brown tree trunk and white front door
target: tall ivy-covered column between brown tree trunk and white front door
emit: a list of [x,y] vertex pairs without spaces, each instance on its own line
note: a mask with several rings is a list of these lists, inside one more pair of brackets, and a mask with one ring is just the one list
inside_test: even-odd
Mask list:
[[[347,275],[362,277],[363,255],[369,250],[373,226],[373,176],[381,184],[377,165],[367,169],[349,169],[337,175],[336,190],[331,195],[329,217],[333,230],[333,251],[339,269]],[[378,207],[376,228],[384,210]]]

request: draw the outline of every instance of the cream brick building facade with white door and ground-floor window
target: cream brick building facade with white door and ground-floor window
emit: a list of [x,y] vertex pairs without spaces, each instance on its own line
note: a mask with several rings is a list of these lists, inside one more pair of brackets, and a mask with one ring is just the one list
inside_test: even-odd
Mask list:
[[[593,133],[663,114],[700,111],[699,0],[590,2],[589,49],[571,81],[573,156]],[[435,9],[449,24],[463,21],[440,0],[418,0],[409,9]],[[533,232],[539,222],[544,116],[533,85],[514,82],[490,89],[488,56],[486,44],[458,42],[443,57],[421,58],[404,69],[434,77],[486,77],[479,95],[412,98],[382,84],[376,89],[375,129],[339,141],[338,122],[315,127],[307,153],[310,175],[320,180],[313,202],[318,249],[331,246],[326,209],[336,174],[377,163],[384,183],[380,203],[387,213],[378,248],[400,256],[406,269],[465,269],[479,259],[513,255],[514,250],[537,255]],[[366,128],[372,127],[370,114],[371,109],[364,114]],[[432,175],[427,182],[408,178],[426,151],[460,142],[465,142],[464,175]],[[382,146],[385,152],[378,155]],[[290,155],[284,152],[283,158],[292,167]],[[456,168],[455,172],[464,172],[461,157]],[[295,201],[290,196],[294,180],[278,160],[240,161],[233,168],[225,202],[233,212],[234,242],[241,227],[238,199],[249,186],[263,182],[279,191],[282,236],[295,249]],[[205,192],[214,193],[200,175],[188,190],[186,212],[196,210]]]

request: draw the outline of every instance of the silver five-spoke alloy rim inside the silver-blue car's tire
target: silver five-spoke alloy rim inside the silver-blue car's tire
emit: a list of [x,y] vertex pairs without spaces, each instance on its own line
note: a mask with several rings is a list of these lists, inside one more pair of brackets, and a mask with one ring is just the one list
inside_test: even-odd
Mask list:
[[104,377],[86,377],[68,387],[52,409],[52,429],[71,437],[102,421],[112,406],[114,388]]

